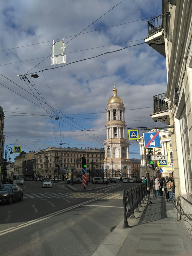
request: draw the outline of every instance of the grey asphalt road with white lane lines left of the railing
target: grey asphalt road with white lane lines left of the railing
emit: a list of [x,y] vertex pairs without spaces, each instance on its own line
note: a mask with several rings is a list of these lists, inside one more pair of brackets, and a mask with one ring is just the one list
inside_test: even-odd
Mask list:
[[134,186],[117,182],[75,192],[60,182],[42,188],[26,181],[22,202],[0,205],[1,256],[92,255],[123,220],[122,192]]

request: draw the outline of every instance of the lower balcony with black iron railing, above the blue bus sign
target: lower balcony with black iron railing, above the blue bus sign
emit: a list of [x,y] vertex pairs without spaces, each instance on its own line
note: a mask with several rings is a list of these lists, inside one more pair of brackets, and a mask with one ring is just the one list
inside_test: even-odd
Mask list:
[[169,106],[164,100],[165,98],[166,93],[153,96],[153,114],[150,114],[150,116],[155,122],[160,121],[164,124],[170,125]]

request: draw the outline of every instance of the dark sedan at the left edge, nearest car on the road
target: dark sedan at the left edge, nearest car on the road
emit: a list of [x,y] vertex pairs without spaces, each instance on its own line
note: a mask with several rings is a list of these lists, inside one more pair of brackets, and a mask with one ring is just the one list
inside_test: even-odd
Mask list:
[[6,202],[12,204],[13,201],[23,200],[23,190],[17,184],[1,184],[0,185],[0,203]]

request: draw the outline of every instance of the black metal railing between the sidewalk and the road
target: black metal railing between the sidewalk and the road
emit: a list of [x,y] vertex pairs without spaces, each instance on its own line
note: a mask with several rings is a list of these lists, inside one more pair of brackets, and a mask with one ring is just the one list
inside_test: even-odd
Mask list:
[[[153,182],[150,181],[150,190],[153,188]],[[150,192],[149,192],[150,193]],[[123,205],[124,205],[124,228],[129,228],[127,219],[129,217],[135,218],[134,211],[139,211],[139,206],[141,207],[141,202],[147,195],[147,185],[141,184],[135,188],[130,188],[129,190],[123,190]]]

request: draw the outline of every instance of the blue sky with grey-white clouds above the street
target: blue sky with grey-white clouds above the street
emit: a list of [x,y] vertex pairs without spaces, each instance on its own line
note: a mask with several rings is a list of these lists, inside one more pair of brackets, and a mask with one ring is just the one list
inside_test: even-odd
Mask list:
[[[5,146],[103,148],[114,84],[127,139],[127,128],[162,126],[149,114],[153,95],[166,92],[165,58],[144,41],[147,21],[161,13],[161,0],[1,1]],[[51,65],[53,40],[62,38],[66,63]],[[130,143],[130,158],[140,158]]]

